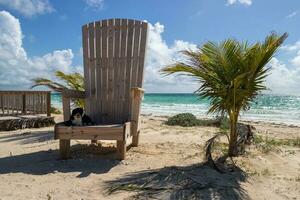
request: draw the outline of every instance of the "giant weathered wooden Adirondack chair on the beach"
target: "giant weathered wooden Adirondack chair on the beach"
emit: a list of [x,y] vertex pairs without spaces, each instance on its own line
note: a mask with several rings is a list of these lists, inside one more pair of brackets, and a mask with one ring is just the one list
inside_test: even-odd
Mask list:
[[93,126],[55,126],[60,155],[70,156],[70,140],[116,140],[119,159],[139,143],[147,23],[109,19],[82,27],[85,92],[62,92],[64,120],[70,100],[84,98]]

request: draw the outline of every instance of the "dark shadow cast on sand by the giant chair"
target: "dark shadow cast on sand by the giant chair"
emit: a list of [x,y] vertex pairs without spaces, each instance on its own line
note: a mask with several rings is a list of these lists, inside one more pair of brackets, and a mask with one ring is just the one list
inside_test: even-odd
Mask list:
[[[79,172],[77,176],[87,177],[91,173],[103,174],[119,164],[117,160],[104,159],[105,155],[86,154],[86,145],[74,145],[73,159],[58,159],[57,150],[38,151],[29,154],[0,158],[0,175],[7,173],[26,173],[45,175],[49,173]],[[75,152],[74,152],[75,151]],[[80,152],[80,153],[76,153]]]

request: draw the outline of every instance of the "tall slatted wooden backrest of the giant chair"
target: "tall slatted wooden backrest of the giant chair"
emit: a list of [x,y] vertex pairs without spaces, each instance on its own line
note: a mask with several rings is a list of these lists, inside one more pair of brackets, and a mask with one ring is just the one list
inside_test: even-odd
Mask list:
[[142,87],[147,23],[109,19],[82,27],[86,113],[98,124],[130,117],[130,89]]

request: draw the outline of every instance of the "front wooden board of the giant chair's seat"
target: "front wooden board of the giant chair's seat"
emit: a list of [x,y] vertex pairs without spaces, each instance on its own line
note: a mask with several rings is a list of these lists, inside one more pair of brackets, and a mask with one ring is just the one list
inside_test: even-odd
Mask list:
[[125,124],[93,126],[55,126],[54,139],[78,140],[124,140]]

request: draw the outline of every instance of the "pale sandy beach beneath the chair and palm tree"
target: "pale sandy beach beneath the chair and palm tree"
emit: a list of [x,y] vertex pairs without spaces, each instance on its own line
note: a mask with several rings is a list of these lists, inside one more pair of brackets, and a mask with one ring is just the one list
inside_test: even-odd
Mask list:
[[[56,116],[56,121],[61,120]],[[72,141],[72,159],[58,159],[58,141],[53,127],[0,132],[0,199],[130,199],[136,192],[107,194],[113,182],[126,177],[142,179],[145,170],[169,173],[195,169],[193,176],[206,187],[203,199],[299,199],[300,148],[281,145],[268,152],[254,145],[244,156],[235,158],[241,171],[220,174],[203,162],[205,141],[218,132],[216,127],[164,125],[166,117],[143,116],[140,146],[128,151],[127,159],[110,159],[113,143],[100,147]],[[276,139],[295,139],[300,128],[251,122],[255,132]],[[164,181],[164,184],[173,182]],[[176,184],[175,184],[176,185]],[[173,186],[172,186],[173,187]],[[172,188],[171,187],[171,188]],[[174,186],[175,187],[175,186]],[[141,191],[141,198],[147,193]],[[176,197],[172,189],[158,199]],[[192,198],[189,198],[192,199]]]

